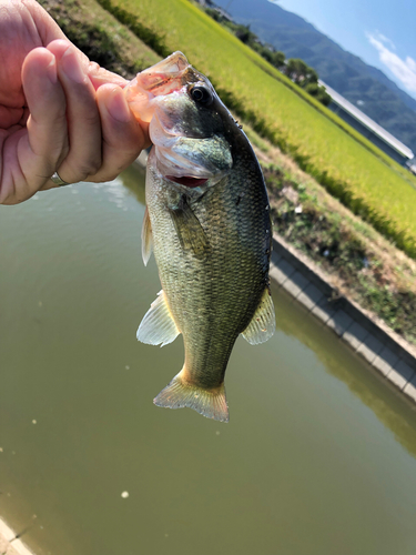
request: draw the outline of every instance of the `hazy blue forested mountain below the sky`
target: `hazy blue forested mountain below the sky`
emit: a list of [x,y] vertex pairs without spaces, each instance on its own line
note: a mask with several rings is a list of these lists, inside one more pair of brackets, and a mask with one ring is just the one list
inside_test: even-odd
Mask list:
[[416,153],[416,100],[383,71],[343,50],[304,19],[267,0],[214,0],[286,58],[301,58],[319,78]]

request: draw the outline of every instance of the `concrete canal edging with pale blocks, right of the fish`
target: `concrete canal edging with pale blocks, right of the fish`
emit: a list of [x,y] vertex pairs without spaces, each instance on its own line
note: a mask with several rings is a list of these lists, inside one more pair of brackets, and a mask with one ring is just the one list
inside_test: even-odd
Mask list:
[[270,275],[363,356],[383,379],[416,402],[415,347],[339,295],[316,264],[278,235],[273,236]]

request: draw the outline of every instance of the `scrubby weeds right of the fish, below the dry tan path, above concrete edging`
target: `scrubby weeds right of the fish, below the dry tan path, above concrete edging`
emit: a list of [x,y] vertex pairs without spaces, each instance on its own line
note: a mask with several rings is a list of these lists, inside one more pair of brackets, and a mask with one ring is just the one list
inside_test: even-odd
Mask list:
[[263,165],[263,173],[280,235],[336,275],[339,289],[361,306],[416,344],[416,289],[409,283],[415,272],[392,268],[392,259],[379,256],[363,229],[345,221],[339,211],[325,210],[308,186],[282,168]]

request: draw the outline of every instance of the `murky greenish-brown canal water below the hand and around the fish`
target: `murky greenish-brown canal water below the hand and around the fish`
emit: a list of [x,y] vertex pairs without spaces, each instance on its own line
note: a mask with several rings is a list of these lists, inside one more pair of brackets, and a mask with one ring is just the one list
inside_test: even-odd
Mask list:
[[183,346],[135,340],[143,199],[131,169],[0,208],[0,515],[38,555],[414,555],[416,414],[284,292],[230,424],[152,404]]

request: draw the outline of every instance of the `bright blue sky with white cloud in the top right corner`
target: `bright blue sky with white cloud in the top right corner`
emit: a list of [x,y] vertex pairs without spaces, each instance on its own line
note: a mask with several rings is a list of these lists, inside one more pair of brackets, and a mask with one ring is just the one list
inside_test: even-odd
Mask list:
[[278,0],[416,98],[416,0]]

